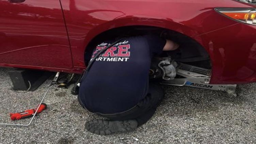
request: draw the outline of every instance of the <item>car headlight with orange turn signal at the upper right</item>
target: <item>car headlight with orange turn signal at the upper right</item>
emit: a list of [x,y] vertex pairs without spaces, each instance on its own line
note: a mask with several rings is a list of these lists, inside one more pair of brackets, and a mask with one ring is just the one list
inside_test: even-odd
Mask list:
[[215,10],[234,20],[256,25],[256,9],[216,8]]

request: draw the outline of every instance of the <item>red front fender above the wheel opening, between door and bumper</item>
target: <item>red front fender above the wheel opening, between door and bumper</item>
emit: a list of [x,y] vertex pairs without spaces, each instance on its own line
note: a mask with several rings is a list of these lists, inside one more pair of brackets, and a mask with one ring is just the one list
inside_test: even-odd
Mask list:
[[[74,59],[83,67],[81,49],[98,34],[123,26],[156,26],[188,36],[199,35],[237,23],[214,11],[218,6],[244,6],[224,0],[61,0]],[[103,6],[102,6],[103,5]],[[161,11],[159,11],[161,9]],[[221,21],[221,22],[220,22]]]

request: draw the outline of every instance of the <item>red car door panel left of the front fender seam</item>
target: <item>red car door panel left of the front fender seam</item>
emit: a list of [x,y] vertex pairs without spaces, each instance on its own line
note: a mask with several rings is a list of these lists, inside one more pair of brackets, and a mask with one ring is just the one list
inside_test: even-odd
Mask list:
[[59,0],[0,0],[0,64],[73,67]]

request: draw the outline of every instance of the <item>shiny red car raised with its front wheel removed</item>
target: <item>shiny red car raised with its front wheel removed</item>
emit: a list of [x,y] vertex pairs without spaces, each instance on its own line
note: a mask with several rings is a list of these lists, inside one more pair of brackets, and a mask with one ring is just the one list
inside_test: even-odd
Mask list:
[[210,84],[256,82],[255,15],[235,0],[0,0],[0,66],[81,73],[90,46],[132,30],[178,43]]

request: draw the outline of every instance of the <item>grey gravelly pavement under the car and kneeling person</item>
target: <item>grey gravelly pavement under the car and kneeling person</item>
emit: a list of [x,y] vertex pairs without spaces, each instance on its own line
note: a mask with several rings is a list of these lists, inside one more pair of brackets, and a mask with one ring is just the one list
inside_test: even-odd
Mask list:
[[[7,68],[0,68],[0,123],[10,112],[34,108],[46,92],[47,80],[36,91],[11,89]],[[174,144],[256,143],[256,84],[238,85],[238,97],[192,87],[163,86],[166,95],[148,123],[129,133],[99,136],[85,131],[85,121],[100,118],[84,111],[70,90],[50,89],[48,108],[29,127],[0,126],[0,143],[42,144]]]

